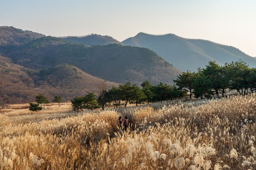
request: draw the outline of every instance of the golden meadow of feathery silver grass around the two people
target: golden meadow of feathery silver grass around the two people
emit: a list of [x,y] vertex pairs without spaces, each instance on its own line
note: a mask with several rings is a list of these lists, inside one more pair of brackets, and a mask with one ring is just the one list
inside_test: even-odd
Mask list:
[[[256,96],[72,111],[0,109],[1,170],[256,169]],[[128,116],[122,136],[117,118]]]

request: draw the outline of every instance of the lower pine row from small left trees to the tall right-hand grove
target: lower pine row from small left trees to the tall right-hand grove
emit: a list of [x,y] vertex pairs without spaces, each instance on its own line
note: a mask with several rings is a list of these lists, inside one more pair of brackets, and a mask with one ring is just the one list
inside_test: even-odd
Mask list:
[[73,110],[104,108],[106,106],[126,107],[128,103],[138,104],[144,102],[162,102],[174,98],[183,97],[185,92],[176,86],[160,82],[153,86],[149,81],[144,81],[140,88],[138,85],[132,85],[130,82],[113,86],[110,89],[102,89],[96,97],[94,93],[88,93],[84,97],[76,96],[71,100]]

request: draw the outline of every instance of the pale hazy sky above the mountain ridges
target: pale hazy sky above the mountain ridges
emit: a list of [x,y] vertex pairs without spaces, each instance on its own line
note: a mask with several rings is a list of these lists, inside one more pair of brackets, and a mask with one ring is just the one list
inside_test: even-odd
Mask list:
[[256,0],[0,0],[0,26],[50,36],[173,33],[256,57]]

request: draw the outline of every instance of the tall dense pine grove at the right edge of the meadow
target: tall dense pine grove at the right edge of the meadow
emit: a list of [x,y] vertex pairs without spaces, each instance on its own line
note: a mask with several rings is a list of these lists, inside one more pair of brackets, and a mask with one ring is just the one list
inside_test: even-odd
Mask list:
[[219,97],[228,90],[236,90],[241,95],[253,93],[256,90],[256,69],[250,68],[245,62],[237,61],[219,66],[209,62],[205,68],[197,72],[182,72],[174,80],[179,89],[187,90],[190,98],[211,98],[214,94]]

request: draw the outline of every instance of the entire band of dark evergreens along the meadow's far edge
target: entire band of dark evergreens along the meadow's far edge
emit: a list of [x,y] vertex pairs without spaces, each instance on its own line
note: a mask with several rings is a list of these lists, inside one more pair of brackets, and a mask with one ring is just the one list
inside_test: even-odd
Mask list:
[[[95,109],[106,106],[126,107],[128,103],[136,104],[149,102],[162,102],[181,98],[189,93],[190,98],[212,98],[224,97],[228,90],[236,90],[241,95],[256,91],[256,69],[250,68],[245,62],[230,62],[219,66],[216,62],[209,62],[205,68],[198,68],[197,72],[182,72],[174,80],[175,85],[168,85],[162,82],[157,85],[144,81],[141,87],[130,82],[113,86],[110,89],[102,88],[99,95],[87,93],[85,96],[76,96],[71,99],[71,106],[74,111],[83,109]],[[30,110],[42,110],[44,104],[49,103],[43,94],[36,97],[37,103],[30,103]],[[61,97],[55,96],[53,102],[59,103]],[[41,106],[39,106],[41,104]],[[43,107],[42,107],[43,104]]]

